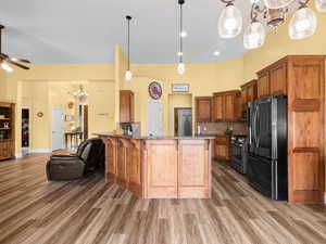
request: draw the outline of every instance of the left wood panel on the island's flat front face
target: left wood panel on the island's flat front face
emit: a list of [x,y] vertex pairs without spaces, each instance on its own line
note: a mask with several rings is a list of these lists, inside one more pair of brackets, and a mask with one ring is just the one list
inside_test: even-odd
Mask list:
[[149,198],[177,197],[177,140],[147,141],[147,195]]

